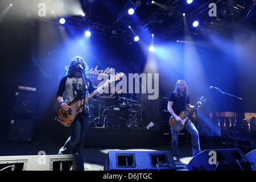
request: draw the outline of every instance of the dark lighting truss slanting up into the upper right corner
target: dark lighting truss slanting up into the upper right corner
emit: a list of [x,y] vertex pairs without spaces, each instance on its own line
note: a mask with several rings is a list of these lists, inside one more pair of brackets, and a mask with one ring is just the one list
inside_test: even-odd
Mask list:
[[[216,3],[217,6],[217,16],[210,17],[209,3]],[[236,1],[233,4],[228,4],[228,1],[209,1],[203,6],[199,7],[192,13],[186,15],[188,23],[193,22],[196,19],[205,20],[207,24],[204,24],[204,27],[199,28],[198,30],[204,31],[204,28],[210,28],[210,31],[218,32],[223,31],[226,28],[233,26],[234,24],[241,22],[245,18],[255,15],[255,1]],[[226,13],[225,10],[228,10],[229,13]],[[224,12],[222,12],[224,11]],[[183,30],[184,20],[181,18],[171,26],[167,27],[162,31],[160,36],[162,38],[168,38],[174,35],[176,32]]]

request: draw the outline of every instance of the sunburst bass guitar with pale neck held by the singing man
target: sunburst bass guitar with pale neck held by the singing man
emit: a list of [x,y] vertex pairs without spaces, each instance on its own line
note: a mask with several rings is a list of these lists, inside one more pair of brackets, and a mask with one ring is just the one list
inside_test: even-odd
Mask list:
[[[117,75],[110,77],[110,79],[107,80],[105,84],[101,85],[92,93],[90,93],[89,97],[85,97],[82,100],[80,100],[79,98],[75,98],[72,102],[68,104],[68,106],[71,108],[68,111],[63,111],[61,108],[59,108],[56,112],[55,120],[60,122],[60,124],[63,126],[70,126],[73,123],[74,119],[76,118],[76,115],[83,111],[81,106],[84,105],[84,102],[92,98],[98,91],[109,86],[110,82],[117,81],[123,75],[124,73],[118,73]],[[85,107],[84,110],[86,111],[86,109],[87,108]]]

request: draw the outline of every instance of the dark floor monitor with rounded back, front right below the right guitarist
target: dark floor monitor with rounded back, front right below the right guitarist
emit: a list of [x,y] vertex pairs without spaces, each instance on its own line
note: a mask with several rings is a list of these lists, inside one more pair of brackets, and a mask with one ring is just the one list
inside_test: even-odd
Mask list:
[[205,150],[188,163],[188,171],[251,171],[240,149]]

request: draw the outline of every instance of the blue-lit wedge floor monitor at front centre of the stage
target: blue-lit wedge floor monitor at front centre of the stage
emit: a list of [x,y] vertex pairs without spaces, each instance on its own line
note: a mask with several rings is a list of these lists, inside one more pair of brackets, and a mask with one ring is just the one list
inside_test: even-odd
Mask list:
[[104,171],[176,170],[171,151],[109,151]]

